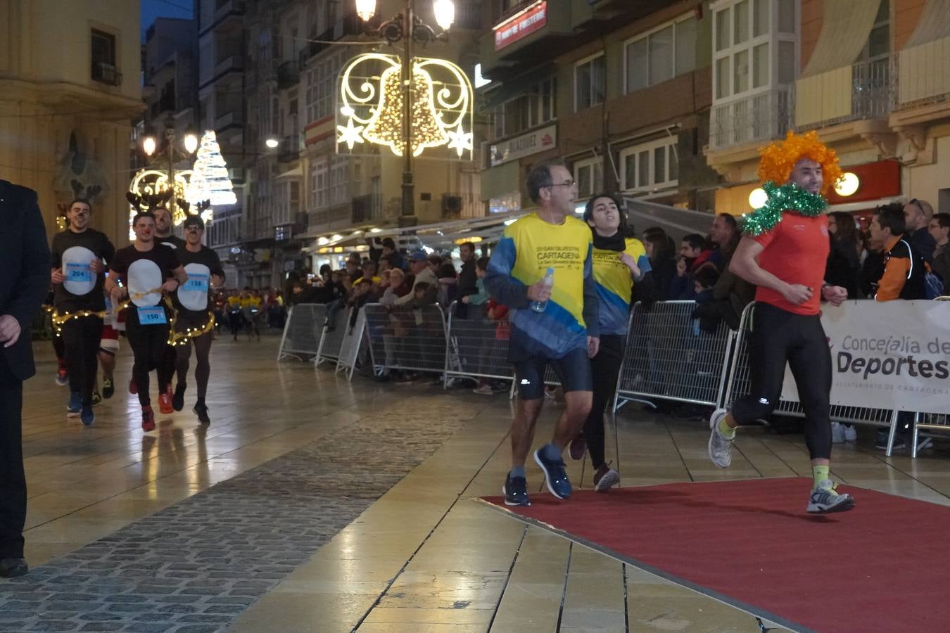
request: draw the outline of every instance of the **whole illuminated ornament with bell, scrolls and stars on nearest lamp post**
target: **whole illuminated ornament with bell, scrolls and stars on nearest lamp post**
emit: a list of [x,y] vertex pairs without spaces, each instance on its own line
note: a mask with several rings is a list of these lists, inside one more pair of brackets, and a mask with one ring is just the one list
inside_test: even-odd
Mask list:
[[[400,58],[382,53],[357,55],[344,66],[337,90],[337,152],[385,145],[404,155],[402,74]],[[470,160],[473,98],[466,73],[447,60],[416,57],[411,89],[412,156],[444,147],[438,158]]]

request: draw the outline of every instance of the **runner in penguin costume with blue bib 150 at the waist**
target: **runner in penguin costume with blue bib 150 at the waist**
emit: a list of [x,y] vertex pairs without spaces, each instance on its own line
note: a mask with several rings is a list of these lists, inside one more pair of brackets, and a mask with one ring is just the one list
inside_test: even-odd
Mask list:
[[[155,243],[155,216],[137,214],[132,219],[135,241],[116,252],[109,262],[105,289],[117,304],[128,299],[125,333],[132,347],[132,378],[142,405],[142,430],[155,429],[155,414],[148,395],[148,373],[159,370],[159,385],[171,382],[161,363],[168,347],[170,310],[162,292],[174,292],[188,280],[175,251]],[[174,277],[174,278],[171,278]],[[123,280],[123,285],[118,280]]]

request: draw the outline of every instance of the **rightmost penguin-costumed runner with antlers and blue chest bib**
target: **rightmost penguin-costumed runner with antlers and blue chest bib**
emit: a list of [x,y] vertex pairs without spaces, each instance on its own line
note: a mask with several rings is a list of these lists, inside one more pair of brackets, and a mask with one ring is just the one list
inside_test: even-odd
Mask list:
[[188,363],[191,358],[191,348],[194,345],[198,400],[193,411],[202,424],[210,424],[211,419],[208,417],[208,406],[205,404],[204,397],[208,390],[208,377],[211,375],[208,356],[211,352],[211,342],[214,340],[212,331],[214,317],[208,305],[208,297],[211,289],[218,288],[224,283],[224,269],[221,267],[218,253],[201,244],[204,222],[198,215],[190,215],[185,219],[184,235],[184,248],[176,251],[176,254],[188,274],[188,281],[175,291],[172,300],[179,311],[178,321],[175,324],[176,332],[186,338],[175,345],[178,384],[175,385],[172,407],[175,411],[180,411],[184,407]]

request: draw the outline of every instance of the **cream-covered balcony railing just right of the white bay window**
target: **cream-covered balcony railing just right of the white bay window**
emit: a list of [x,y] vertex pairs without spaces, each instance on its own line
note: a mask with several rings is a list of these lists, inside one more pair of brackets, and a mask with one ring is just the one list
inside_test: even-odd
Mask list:
[[[850,85],[851,89],[843,90]],[[896,56],[835,68],[795,84],[795,127],[884,119],[896,107]]]

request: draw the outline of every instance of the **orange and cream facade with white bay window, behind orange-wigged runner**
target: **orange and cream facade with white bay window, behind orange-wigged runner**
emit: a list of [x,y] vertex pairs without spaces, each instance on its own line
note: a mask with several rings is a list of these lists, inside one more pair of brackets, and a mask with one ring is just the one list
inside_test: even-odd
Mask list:
[[758,147],[795,129],[818,131],[859,177],[854,194],[830,196],[833,211],[866,220],[913,197],[950,211],[950,4],[725,0],[712,11],[708,158],[731,183],[718,207],[748,209]]

